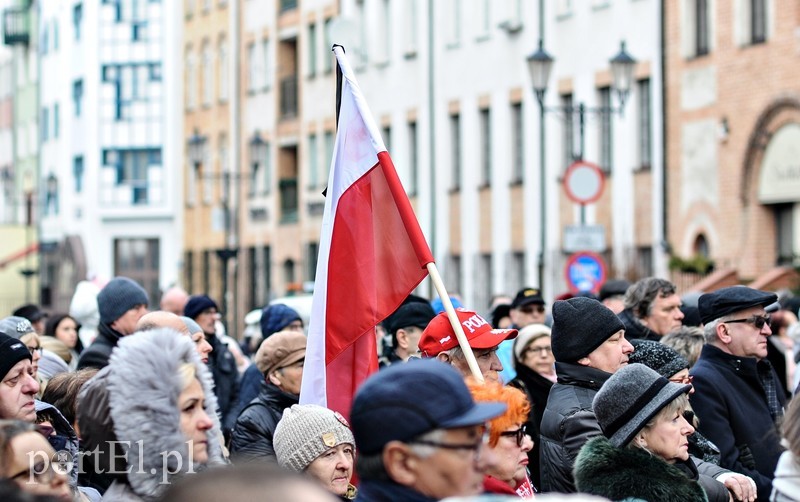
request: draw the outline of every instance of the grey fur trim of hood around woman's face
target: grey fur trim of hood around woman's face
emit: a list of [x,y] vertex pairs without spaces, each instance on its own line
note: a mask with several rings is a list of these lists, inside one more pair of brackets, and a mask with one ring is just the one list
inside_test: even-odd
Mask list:
[[175,476],[202,469],[187,461],[189,446],[180,430],[178,397],[183,385],[178,369],[184,363],[195,366],[205,411],[213,422],[207,433],[207,465],[224,464],[211,373],[189,337],[170,329],[136,333],[120,340],[111,354],[109,415],[117,440],[130,442],[127,481],[145,500],[161,495]]

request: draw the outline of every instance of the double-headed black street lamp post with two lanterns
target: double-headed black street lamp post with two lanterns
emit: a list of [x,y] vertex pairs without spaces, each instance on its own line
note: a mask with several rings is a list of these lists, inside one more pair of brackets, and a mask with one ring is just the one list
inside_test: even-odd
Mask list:
[[628,98],[633,83],[633,70],[636,66],[636,60],[631,57],[625,50],[625,42],[620,43],[619,53],[611,58],[609,64],[611,66],[612,87],[617,94],[619,106],[596,106],[587,107],[583,103],[577,106],[546,106],[544,95],[547,91],[547,83],[550,80],[550,73],[553,70],[553,63],[555,60],[544,50],[544,41],[539,39],[539,47],[536,51],[528,56],[528,72],[530,73],[531,85],[533,92],[536,95],[536,101],[539,103],[539,214],[540,214],[540,255],[539,255],[539,287],[543,286],[544,282],[544,265],[546,256],[546,189],[545,189],[545,168],[546,168],[546,155],[545,155],[545,127],[544,118],[546,112],[558,112],[568,116],[577,115],[579,124],[579,145],[580,148],[577,153],[573,152],[575,160],[583,159],[584,153],[584,126],[586,113],[596,113],[600,116],[613,115],[622,112],[625,108],[625,101]]

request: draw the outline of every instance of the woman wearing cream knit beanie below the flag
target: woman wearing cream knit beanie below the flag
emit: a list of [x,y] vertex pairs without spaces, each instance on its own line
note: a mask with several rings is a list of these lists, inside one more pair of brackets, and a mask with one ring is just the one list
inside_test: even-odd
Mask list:
[[350,484],[355,439],[339,413],[315,404],[286,408],[273,437],[278,463],[304,472],[342,500],[355,498]]

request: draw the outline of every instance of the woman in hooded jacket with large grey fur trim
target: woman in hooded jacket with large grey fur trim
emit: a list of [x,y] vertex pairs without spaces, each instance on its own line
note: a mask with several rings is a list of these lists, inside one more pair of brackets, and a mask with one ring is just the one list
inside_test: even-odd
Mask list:
[[155,500],[174,479],[225,463],[212,388],[194,343],[177,331],[120,340],[78,398],[85,448],[100,462],[84,467],[117,473],[104,500]]

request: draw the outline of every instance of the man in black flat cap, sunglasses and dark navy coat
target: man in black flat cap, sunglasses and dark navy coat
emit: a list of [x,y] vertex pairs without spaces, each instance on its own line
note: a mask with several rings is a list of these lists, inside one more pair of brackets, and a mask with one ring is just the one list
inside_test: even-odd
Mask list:
[[777,296],[744,286],[700,296],[706,345],[692,367],[692,407],[699,430],[720,450],[719,465],[750,476],[768,500],[783,448],[779,425],[785,398],[767,361],[772,334],[766,307]]

